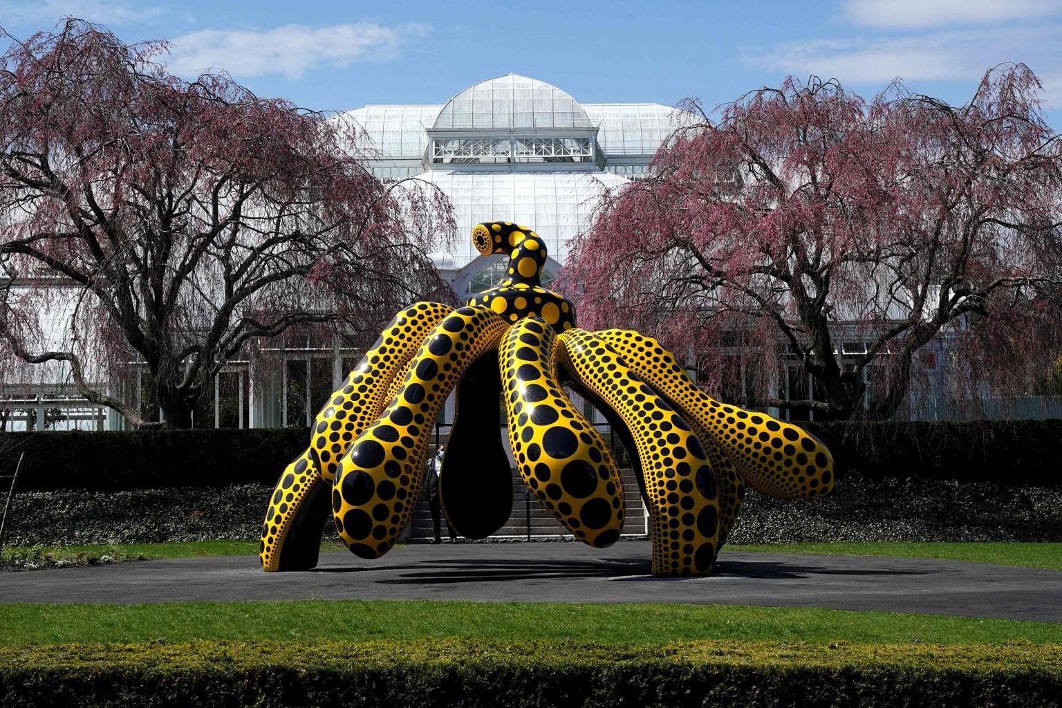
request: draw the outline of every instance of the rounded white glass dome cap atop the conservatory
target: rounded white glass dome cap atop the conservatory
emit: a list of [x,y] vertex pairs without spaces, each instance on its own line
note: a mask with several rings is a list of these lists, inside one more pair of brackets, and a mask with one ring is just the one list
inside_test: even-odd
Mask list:
[[508,74],[469,86],[439,111],[432,129],[593,127],[583,107],[552,84]]

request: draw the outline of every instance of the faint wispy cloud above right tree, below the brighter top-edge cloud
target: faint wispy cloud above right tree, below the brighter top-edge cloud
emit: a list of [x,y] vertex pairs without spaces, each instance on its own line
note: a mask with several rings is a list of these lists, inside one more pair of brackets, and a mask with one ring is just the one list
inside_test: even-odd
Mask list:
[[917,36],[808,39],[744,47],[748,66],[796,76],[816,74],[842,84],[906,81],[967,81],[1004,62],[1024,62],[1033,71],[1062,70],[1062,24],[1037,28],[936,32]]

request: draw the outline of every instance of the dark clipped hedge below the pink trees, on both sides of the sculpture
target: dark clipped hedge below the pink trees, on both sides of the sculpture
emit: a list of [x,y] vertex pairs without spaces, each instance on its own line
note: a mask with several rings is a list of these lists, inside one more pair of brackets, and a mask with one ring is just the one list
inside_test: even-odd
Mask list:
[[[838,477],[928,477],[1062,486],[1062,420],[807,424]],[[273,484],[305,449],[304,428],[0,433],[0,474],[20,452],[19,488],[143,489]],[[0,484],[0,490],[3,484]]]

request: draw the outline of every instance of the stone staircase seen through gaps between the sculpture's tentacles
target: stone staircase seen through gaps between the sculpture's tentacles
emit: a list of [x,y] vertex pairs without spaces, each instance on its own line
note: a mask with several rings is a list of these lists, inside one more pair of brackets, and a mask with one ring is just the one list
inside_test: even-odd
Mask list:
[[[629,468],[620,469],[620,477],[623,480],[624,499],[624,521],[623,537],[638,538],[646,537],[648,525],[646,519],[646,507],[638,491],[638,483],[634,478],[634,470]],[[553,516],[543,506],[538,498],[528,491],[524,480],[520,479],[516,468],[512,468],[513,476],[513,513],[509,521],[496,534],[490,537],[492,540],[546,540],[550,538],[573,539],[568,530],[553,518]],[[442,535],[446,538],[446,521],[442,523]],[[431,510],[428,507],[428,498],[421,495],[416,510],[413,513],[413,520],[407,529],[406,540],[412,543],[423,543],[431,540]]]

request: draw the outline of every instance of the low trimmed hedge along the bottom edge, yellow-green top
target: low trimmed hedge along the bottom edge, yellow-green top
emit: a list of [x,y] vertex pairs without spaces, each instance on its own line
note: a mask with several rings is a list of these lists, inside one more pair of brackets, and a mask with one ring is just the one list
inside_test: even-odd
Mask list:
[[1062,645],[441,639],[0,650],[4,706],[1058,706]]

